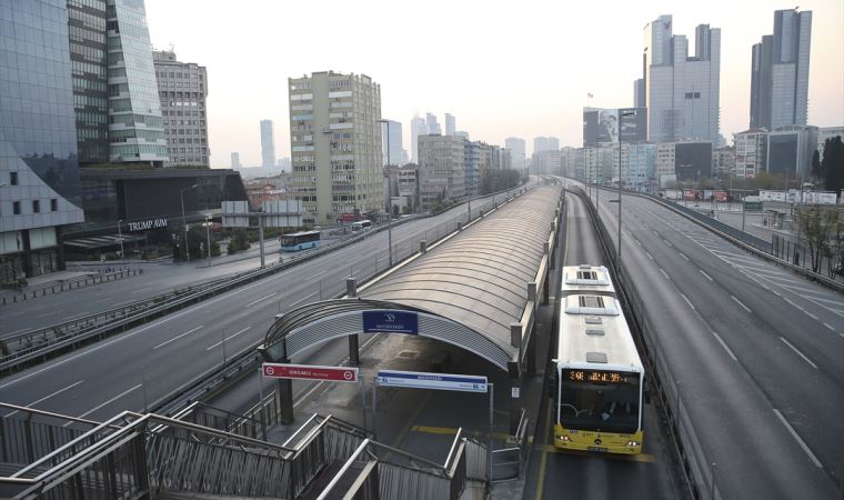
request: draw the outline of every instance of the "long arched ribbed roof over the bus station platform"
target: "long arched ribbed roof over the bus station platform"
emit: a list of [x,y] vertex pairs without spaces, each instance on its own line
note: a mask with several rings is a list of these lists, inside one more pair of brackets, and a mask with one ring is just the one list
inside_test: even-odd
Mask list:
[[445,317],[513,354],[510,323],[528,303],[559,199],[559,187],[534,189],[359,296]]

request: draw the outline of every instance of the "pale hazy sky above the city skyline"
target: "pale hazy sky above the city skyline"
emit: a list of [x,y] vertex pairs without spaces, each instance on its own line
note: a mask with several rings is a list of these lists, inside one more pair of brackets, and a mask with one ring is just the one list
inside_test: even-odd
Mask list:
[[[681,3],[683,4],[681,7]],[[721,133],[745,130],[751,46],[773,33],[768,0],[362,1],[147,0],[152,43],[208,68],[211,164],[261,162],[259,121],[275,122],[275,151],[290,156],[287,82],[314,71],[369,74],[383,118],[401,121],[410,150],[414,112],[456,117],[473,140],[503,146],[556,136],[582,142],[582,107],[633,104],[643,28],[673,14],[674,34],[721,28]],[[804,0],[812,10],[808,122],[844,126],[844,1]]]

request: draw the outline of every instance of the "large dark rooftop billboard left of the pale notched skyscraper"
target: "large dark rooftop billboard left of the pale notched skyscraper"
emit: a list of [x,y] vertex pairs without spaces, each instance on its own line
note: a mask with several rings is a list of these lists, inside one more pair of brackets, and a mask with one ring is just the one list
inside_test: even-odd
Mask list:
[[583,146],[619,142],[644,142],[647,139],[646,108],[584,108]]

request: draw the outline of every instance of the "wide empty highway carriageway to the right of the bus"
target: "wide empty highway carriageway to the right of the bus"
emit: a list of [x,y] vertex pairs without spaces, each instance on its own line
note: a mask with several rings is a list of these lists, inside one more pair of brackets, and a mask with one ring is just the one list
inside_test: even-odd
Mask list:
[[[617,204],[602,191],[614,241]],[[635,282],[724,498],[841,498],[844,297],[625,194]]]

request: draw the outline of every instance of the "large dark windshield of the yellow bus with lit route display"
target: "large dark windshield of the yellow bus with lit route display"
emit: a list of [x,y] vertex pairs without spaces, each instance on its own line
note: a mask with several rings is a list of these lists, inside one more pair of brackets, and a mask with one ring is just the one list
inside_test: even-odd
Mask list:
[[640,379],[635,372],[562,370],[560,423],[566,429],[635,432]]

